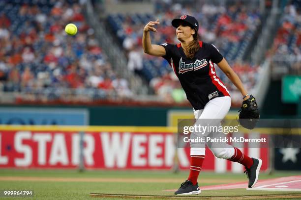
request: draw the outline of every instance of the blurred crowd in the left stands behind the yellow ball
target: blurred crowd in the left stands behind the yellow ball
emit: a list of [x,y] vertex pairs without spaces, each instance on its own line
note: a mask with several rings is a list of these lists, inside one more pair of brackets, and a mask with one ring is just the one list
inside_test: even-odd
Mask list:
[[[127,80],[107,62],[81,4],[39,2],[0,2],[0,90],[24,100],[129,97]],[[78,27],[75,36],[64,32],[69,23]]]

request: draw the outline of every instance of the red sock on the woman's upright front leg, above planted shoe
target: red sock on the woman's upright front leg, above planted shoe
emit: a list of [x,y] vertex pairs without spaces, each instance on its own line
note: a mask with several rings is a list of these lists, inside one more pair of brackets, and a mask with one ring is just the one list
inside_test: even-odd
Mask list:
[[187,180],[190,180],[193,185],[198,182],[198,176],[201,172],[203,160],[205,155],[191,155],[190,156],[190,171]]

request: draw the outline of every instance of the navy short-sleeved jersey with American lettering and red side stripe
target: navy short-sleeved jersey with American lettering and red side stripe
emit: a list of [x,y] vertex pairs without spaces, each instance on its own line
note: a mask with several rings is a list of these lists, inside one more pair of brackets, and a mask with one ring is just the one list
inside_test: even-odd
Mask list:
[[181,43],[164,43],[166,59],[178,76],[187,100],[195,110],[204,109],[206,103],[216,97],[230,96],[224,83],[215,73],[214,64],[223,56],[211,44],[199,41],[200,48],[192,59],[186,57]]

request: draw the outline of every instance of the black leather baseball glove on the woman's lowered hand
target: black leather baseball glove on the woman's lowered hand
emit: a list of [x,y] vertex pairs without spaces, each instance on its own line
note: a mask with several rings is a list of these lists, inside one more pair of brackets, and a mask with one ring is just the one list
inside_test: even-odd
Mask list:
[[239,124],[247,129],[253,129],[259,120],[259,110],[252,95],[250,95],[249,99],[242,101],[239,112]]

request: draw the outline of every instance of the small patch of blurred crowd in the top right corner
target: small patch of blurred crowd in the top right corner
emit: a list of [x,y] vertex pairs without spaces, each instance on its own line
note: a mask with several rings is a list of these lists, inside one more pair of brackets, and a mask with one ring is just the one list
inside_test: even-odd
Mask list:
[[284,8],[279,29],[270,50],[273,66],[285,73],[301,74],[301,1],[292,0]]

